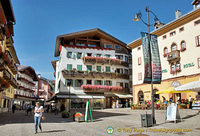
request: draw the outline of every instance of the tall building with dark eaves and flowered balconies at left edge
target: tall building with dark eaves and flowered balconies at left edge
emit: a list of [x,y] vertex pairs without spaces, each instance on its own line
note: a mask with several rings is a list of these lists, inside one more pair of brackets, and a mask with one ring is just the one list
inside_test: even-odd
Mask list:
[[13,104],[15,75],[19,60],[13,46],[15,17],[10,0],[0,1],[0,112],[8,111]]

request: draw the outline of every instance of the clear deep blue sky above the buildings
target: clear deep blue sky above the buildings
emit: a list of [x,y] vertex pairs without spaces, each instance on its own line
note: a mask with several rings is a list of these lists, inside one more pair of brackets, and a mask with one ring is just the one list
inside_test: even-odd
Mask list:
[[[11,0],[16,25],[14,46],[22,65],[32,66],[37,74],[53,77],[52,60],[56,36],[100,28],[119,40],[130,43],[147,31],[142,22],[133,22],[139,10],[146,20],[149,6],[163,23],[175,19],[175,11],[185,14],[193,0]],[[150,16],[153,23],[153,16]],[[153,30],[153,28],[151,29]]]

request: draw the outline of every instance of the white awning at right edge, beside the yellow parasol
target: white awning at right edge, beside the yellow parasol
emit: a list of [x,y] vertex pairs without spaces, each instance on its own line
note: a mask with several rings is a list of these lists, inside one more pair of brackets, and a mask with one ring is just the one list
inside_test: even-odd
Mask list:
[[176,91],[190,90],[193,92],[200,92],[200,79],[198,81],[193,81],[182,86],[175,88]]

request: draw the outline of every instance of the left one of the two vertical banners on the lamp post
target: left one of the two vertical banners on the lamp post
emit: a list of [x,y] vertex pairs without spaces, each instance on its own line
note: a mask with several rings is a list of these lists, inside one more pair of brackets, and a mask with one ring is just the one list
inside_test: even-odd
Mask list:
[[152,71],[148,33],[141,32],[141,36],[144,56],[144,83],[150,84],[152,81]]

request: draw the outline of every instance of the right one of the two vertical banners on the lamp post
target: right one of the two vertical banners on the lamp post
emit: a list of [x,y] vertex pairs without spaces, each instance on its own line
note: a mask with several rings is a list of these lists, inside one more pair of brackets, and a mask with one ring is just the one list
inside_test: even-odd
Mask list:
[[151,45],[152,72],[153,72],[152,83],[160,84],[162,78],[162,70],[161,70],[157,35],[151,34],[150,37],[151,37],[150,45]]

